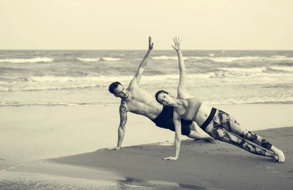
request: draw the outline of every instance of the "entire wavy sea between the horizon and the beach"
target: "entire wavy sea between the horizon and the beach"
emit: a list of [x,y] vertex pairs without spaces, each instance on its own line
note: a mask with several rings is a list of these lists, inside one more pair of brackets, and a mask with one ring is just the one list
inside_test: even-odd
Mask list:
[[[182,50],[187,92],[207,104],[293,103],[293,51]],[[0,50],[0,107],[108,106],[115,81],[128,86],[146,50]],[[153,50],[140,81],[176,96],[174,50]]]

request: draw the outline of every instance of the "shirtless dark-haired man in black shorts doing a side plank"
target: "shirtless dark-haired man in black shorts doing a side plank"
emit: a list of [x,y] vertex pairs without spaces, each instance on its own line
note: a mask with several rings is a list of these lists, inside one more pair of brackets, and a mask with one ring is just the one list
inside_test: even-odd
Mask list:
[[[120,97],[121,104],[119,108],[120,125],[118,127],[118,143],[117,146],[108,148],[107,150],[119,150],[121,148],[127,122],[127,112],[146,116],[157,126],[175,131],[173,123],[173,108],[171,106],[163,106],[159,104],[152,95],[138,86],[152,49],[153,43],[151,43],[151,37],[149,36],[148,51],[141,62],[138,71],[130,81],[128,88],[125,88],[120,82],[113,82],[109,86],[109,92],[116,97]],[[216,140],[209,135],[199,134],[196,130],[195,123],[192,121],[181,119],[181,126],[182,135],[186,135],[192,139],[201,139],[212,143],[216,142]]]

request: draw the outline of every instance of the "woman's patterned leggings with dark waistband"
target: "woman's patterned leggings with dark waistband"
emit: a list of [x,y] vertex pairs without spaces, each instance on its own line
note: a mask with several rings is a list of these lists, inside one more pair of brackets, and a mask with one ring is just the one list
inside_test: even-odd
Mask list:
[[[229,114],[218,109],[216,109],[215,115],[207,125],[205,131],[214,139],[228,142],[247,150],[252,154],[264,156],[266,150],[263,148],[269,150],[272,147],[270,142],[267,142],[264,138],[248,131]],[[246,140],[254,142],[263,148],[259,148]]]

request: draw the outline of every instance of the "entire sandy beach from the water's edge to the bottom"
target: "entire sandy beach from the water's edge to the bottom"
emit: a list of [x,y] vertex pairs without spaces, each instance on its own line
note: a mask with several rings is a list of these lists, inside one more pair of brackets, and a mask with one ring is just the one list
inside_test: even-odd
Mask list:
[[179,159],[164,161],[173,132],[134,114],[123,148],[106,151],[117,142],[117,106],[1,108],[0,189],[292,189],[293,105],[216,107],[283,150],[286,163],[187,138]]

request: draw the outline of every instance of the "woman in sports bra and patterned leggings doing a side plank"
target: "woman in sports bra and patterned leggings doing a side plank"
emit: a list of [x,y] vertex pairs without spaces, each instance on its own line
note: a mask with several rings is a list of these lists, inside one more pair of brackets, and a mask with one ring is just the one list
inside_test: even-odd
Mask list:
[[[158,91],[156,93],[156,100],[163,105],[170,105],[174,107],[173,121],[175,124],[175,156],[167,157],[164,160],[177,160],[181,143],[181,123],[180,119],[195,121],[205,132],[207,132],[214,139],[228,142],[238,146],[244,150],[261,156],[271,157],[274,161],[285,162],[284,153],[274,147],[270,142],[264,138],[248,131],[242,127],[229,114],[202,104],[194,96],[186,92],[186,72],[183,61],[183,56],[180,50],[180,42],[177,37],[172,46],[178,55],[180,78],[177,88],[177,98],[174,98],[166,91]],[[254,142],[263,148],[257,147],[250,142]],[[273,153],[267,152],[271,150]]]

